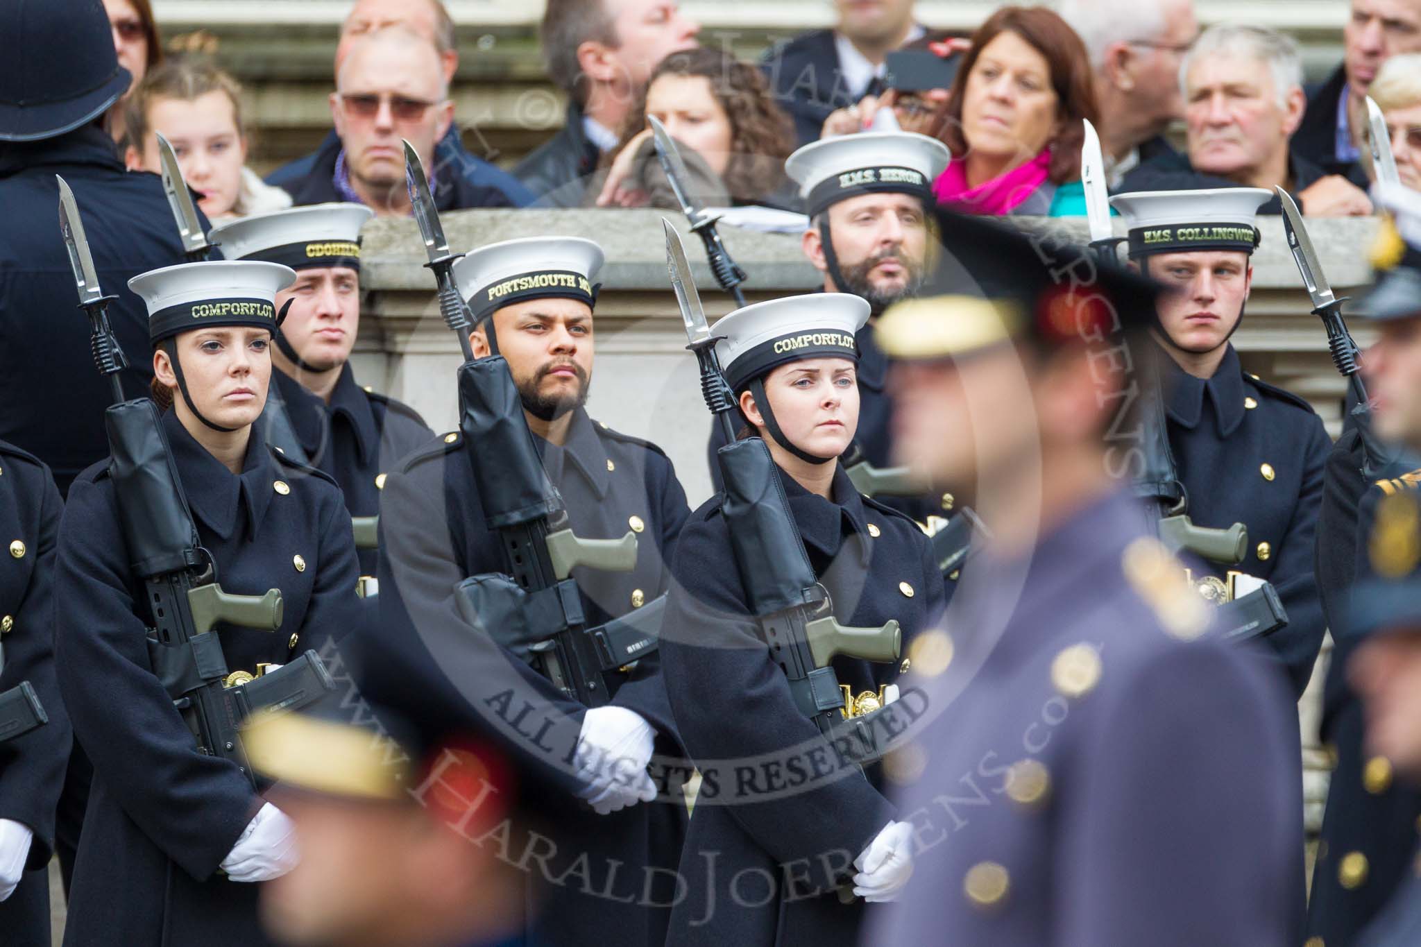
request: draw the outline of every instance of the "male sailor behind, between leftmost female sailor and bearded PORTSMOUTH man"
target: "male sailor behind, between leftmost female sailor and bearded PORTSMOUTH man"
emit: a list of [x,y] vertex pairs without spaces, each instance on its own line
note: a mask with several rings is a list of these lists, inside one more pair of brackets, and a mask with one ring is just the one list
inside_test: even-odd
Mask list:
[[[350,366],[360,332],[360,229],[372,216],[361,204],[315,204],[234,220],[209,237],[229,260],[296,270],[296,284],[276,298],[277,308],[293,302],[271,352],[267,439],[330,474],[352,517],[377,515],[385,471],[433,436],[415,409],[361,388]],[[362,548],[360,562],[368,589],[375,549]]]

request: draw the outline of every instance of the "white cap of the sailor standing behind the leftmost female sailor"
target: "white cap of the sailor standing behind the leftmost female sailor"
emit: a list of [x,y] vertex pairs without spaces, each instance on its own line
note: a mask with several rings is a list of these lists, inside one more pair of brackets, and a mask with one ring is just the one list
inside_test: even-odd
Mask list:
[[219,224],[207,240],[227,260],[264,260],[293,270],[360,268],[360,229],[375,216],[355,203],[311,204]]

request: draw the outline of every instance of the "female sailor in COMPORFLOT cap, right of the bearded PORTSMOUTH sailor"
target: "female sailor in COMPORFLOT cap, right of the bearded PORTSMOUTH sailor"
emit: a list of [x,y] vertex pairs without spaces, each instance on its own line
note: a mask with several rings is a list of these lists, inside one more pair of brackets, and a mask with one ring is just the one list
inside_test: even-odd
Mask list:
[[[895,619],[911,639],[941,609],[944,578],[917,524],[863,497],[838,460],[858,423],[854,335],[868,312],[854,295],[790,297],[737,310],[710,334],[725,336],[726,383],[769,447],[834,616],[863,628]],[[831,741],[800,710],[756,620],[723,503],[712,497],[681,534],[662,642],[671,708],[703,777],[681,859],[689,894],[669,943],[854,944],[858,897],[892,900],[911,875],[911,829],[858,767],[786,775],[830,758]],[[845,656],[833,667],[851,696],[887,694],[902,670]],[[760,775],[739,778],[736,760]]]

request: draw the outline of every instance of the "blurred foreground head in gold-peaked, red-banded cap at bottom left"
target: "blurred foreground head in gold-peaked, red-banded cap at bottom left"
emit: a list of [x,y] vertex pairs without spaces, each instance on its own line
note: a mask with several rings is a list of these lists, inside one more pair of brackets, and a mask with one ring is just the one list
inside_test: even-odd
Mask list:
[[[412,681],[355,726],[287,714],[244,745],[291,816],[301,862],[261,889],[290,947],[514,947],[523,877],[496,836],[517,808],[507,764]],[[371,713],[371,710],[374,713]]]

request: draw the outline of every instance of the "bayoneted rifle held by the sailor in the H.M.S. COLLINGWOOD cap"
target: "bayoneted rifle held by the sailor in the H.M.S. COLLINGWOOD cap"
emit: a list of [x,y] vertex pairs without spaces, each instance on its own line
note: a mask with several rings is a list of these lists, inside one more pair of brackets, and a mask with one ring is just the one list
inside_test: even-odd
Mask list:
[[[1090,248],[1097,266],[1118,267],[1115,247],[1123,243],[1110,223],[1110,197],[1106,192],[1106,160],[1100,150],[1100,136],[1088,119],[1084,121],[1086,139],[1081,146],[1081,185],[1086,189],[1086,214],[1090,223]],[[1219,530],[1198,527],[1189,518],[1189,497],[1179,480],[1179,467],[1169,446],[1169,429],[1164,412],[1164,392],[1158,373],[1145,372],[1141,392],[1141,454],[1142,470],[1135,477],[1135,496],[1151,501],[1160,510],[1160,540],[1171,551],[1185,549],[1219,565],[1238,565],[1248,555],[1248,527],[1242,522]],[[1218,606],[1216,626],[1226,639],[1260,637],[1287,623],[1287,613],[1269,582],[1260,582],[1250,592],[1233,598],[1241,572],[1229,572],[1229,582],[1215,576],[1194,582],[1195,589]],[[1191,579],[1192,581],[1192,579]]]

